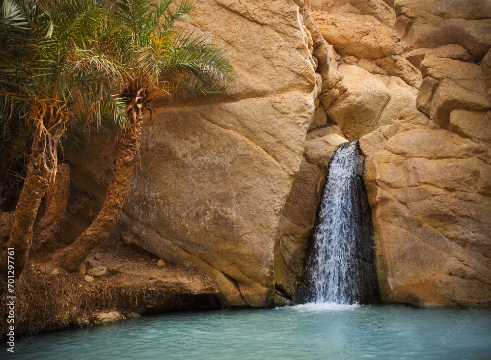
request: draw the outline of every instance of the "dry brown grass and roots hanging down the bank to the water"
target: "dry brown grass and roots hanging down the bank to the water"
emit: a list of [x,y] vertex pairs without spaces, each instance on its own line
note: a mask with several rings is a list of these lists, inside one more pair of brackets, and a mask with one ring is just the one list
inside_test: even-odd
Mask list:
[[[82,287],[79,287],[82,283]],[[0,280],[2,294],[7,283]],[[104,310],[123,314],[135,312],[145,298],[145,289],[120,283],[87,283],[78,274],[53,277],[47,274],[23,276],[15,283],[15,332],[47,332],[81,326]],[[6,301],[0,303],[0,317],[7,318]],[[7,332],[1,321],[0,337]]]

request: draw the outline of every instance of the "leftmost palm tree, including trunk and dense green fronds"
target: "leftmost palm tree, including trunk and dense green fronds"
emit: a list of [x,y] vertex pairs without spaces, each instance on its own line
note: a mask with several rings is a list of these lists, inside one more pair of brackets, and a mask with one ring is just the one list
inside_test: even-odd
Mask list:
[[8,242],[15,249],[18,277],[41,198],[56,175],[57,147],[69,116],[83,109],[98,121],[106,109],[115,117],[122,113],[109,86],[121,68],[101,48],[113,29],[97,0],[3,0],[1,5],[1,110],[22,108],[23,120],[35,129]]

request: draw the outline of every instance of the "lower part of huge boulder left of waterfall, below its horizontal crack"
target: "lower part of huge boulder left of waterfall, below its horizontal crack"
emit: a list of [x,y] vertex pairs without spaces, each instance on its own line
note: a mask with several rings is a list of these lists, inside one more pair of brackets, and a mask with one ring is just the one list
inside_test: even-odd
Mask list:
[[142,143],[123,237],[203,270],[231,304],[270,305],[274,235],[312,112],[300,92],[165,109]]

